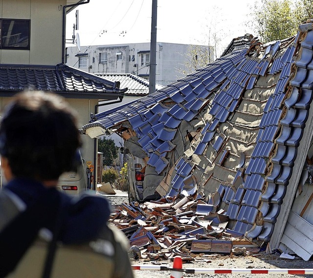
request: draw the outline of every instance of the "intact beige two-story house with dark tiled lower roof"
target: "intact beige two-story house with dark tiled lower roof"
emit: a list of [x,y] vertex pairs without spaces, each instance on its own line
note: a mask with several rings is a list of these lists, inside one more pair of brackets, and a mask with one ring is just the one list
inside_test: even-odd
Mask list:
[[[0,110],[15,93],[29,89],[53,92],[66,97],[79,111],[82,126],[89,122],[91,113],[97,112],[99,100],[123,99],[127,89],[121,90],[119,82],[65,64],[66,14],[88,3],[89,0],[0,0]],[[96,165],[96,141],[83,136],[83,142],[83,158]]]

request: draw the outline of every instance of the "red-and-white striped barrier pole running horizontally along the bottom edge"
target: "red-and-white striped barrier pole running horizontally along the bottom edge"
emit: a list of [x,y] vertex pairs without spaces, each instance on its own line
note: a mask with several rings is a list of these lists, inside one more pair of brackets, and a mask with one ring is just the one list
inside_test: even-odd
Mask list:
[[[133,270],[156,270],[172,271],[173,268],[168,265],[133,265]],[[177,270],[177,269],[174,269]],[[292,274],[292,275],[312,275],[312,268],[303,268],[303,269],[285,269],[285,268],[186,268],[181,269],[181,272],[186,274]]]

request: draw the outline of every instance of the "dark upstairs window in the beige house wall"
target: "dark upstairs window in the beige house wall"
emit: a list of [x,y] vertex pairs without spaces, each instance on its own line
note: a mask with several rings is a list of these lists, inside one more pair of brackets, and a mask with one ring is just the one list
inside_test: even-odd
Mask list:
[[1,19],[0,48],[29,49],[30,20]]

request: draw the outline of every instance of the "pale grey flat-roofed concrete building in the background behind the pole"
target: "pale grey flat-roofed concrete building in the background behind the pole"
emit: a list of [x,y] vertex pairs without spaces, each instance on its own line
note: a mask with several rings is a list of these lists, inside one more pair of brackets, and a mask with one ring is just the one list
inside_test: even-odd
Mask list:
[[[184,76],[181,72],[187,70],[189,49],[190,45],[156,43],[156,83],[166,86]],[[81,58],[80,54],[86,56]],[[149,79],[149,55],[150,43],[81,46],[80,51],[68,45],[67,65],[90,73],[134,73]],[[86,59],[87,63],[79,63],[79,59]]]

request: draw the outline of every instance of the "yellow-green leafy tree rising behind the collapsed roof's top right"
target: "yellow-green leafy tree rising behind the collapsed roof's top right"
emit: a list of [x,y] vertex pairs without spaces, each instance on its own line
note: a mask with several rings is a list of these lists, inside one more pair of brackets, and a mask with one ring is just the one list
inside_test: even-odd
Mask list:
[[255,4],[255,31],[263,43],[287,39],[312,15],[313,0],[261,0]]

